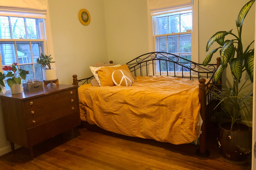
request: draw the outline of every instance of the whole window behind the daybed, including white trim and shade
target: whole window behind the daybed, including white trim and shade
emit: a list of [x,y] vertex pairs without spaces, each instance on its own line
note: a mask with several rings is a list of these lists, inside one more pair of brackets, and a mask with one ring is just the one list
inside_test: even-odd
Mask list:
[[[149,52],[172,53],[198,63],[198,0],[147,0],[147,16]],[[175,56],[166,57],[162,59],[178,60]],[[178,62],[191,66],[184,59]],[[182,71],[183,75],[189,75],[189,69],[171,62],[157,61],[154,65],[154,70],[149,70],[150,75],[160,74],[160,71],[163,75],[167,71],[168,75],[180,75]],[[192,75],[195,74],[192,71]]]

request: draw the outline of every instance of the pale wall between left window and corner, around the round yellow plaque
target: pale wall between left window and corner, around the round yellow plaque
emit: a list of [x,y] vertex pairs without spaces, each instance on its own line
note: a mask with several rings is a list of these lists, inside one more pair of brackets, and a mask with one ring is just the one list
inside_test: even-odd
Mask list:
[[[72,84],[72,75],[91,75],[89,66],[108,62],[103,0],[48,0],[54,56],[59,83]],[[78,12],[85,8],[91,22],[84,26]]]

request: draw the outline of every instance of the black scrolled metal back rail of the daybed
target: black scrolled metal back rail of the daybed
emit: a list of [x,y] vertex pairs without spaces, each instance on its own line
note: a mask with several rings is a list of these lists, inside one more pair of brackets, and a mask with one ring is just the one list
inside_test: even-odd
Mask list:
[[[204,67],[202,64],[195,63],[187,58],[165,52],[142,54],[126,63],[126,65],[135,76],[167,75],[182,78],[186,76],[190,80],[192,76],[197,76],[198,79],[200,77],[209,78],[209,75],[212,76],[217,68],[217,64],[208,64],[208,66]],[[77,76],[73,78],[77,78]],[[78,83],[83,85],[90,83],[92,79],[93,76],[90,76],[78,80]]]

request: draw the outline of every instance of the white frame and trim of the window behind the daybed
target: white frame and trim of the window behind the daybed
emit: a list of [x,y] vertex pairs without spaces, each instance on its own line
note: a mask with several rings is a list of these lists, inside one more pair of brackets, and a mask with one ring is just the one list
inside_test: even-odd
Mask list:
[[[192,1],[192,7],[191,5],[187,6],[180,6],[180,7],[170,7],[166,9],[159,9],[159,10],[154,10],[150,11],[149,8],[149,0],[147,0],[147,15],[148,15],[148,37],[149,37],[149,51],[156,51],[156,37],[161,37],[161,36],[172,36],[172,35],[181,35],[181,34],[191,34],[191,60],[195,63],[199,62],[199,42],[198,42],[198,0],[193,0]],[[161,14],[168,14],[168,13],[173,13],[173,12],[180,12],[180,11],[185,11],[185,10],[192,10],[192,31],[189,32],[179,32],[179,33],[171,33],[171,34],[161,34],[155,35],[154,30],[156,28],[154,27],[153,24],[153,16],[156,15],[161,15]],[[156,65],[156,63],[155,63]],[[198,68],[195,68],[198,69]],[[150,68],[149,70],[149,75],[160,75],[160,72],[156,70],[156,66],[154,67],[154,70]],[[161,71],[161,75],[166,75],[167,71]],[[175,75],[181,75],[181,72],[175,71]],[[183,73],[183,75],[188,74],[190,76],[190,73]],[[174,71],[168,72],[168,75],[174,75]],[[192,73],[192,76],[197,76],[196,73]]]

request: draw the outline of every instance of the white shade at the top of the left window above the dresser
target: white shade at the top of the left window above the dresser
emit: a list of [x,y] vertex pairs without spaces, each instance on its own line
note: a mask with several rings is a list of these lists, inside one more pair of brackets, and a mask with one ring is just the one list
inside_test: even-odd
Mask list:
[[[0,0],[0,15],[45,18],[46,0]],[[23,16],[24,17],[24,16]]]

